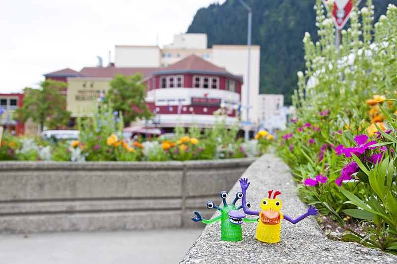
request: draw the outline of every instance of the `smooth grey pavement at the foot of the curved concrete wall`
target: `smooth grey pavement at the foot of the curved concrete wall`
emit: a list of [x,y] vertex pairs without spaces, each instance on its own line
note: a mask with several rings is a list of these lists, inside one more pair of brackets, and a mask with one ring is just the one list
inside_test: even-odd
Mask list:
[[0,235],[1,264],[175,264],[202,229]]

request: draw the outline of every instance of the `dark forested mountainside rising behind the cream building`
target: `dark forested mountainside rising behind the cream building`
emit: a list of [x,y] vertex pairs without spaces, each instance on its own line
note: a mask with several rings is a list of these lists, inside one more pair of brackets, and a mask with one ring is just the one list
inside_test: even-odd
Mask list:
[[[297,88],[296,73],[305,70],[302,39],[317,39],[315,0],[245,0],[252,8],[252,45],[261,46],[260,93],[282,93],[285,104]],[[360,2],[360,8],[365,6]],[[375,21],[389,3],[373,0]],[[248,12],[239,0],[226,0],[197,11],[187,33],[206,33],[212,45],[247,45]],[[344,28],[348,28],[346,24]]]

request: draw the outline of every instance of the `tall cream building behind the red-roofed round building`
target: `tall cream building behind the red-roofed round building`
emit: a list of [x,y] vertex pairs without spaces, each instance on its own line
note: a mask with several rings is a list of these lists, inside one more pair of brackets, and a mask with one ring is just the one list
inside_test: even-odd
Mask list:
[[[181,34],[174,36],[174,42],[162,49],[158,46],[115,46],[116,67],[167,67],[190,55],[218,66],[236,76],[242,76],[241,88],[242,117],[246,121],[247,98],[249,97],[249,121],[257,123],[259,108],[259,74],[261,47],[251,46],[250,76],[248,77],[248,46],[213,45],[207,48],[206,34]],[[249,78],[249,95],[247,85]]]

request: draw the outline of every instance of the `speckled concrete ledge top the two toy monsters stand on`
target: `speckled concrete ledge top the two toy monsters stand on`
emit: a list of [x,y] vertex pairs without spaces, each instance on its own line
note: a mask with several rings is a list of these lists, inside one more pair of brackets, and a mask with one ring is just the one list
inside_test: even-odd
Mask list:
[[[247,199],[251,201],[253,210],[260,210],[259,202],[268,196],[268,190],[273,189],[281,192],[277,198],[283,202],[282,213],[296,218],[307,211],[308,206],[294,191],[295,183],[288,169],[280,159],[265,154],[245,171],[242,177],[251,182]],[[237,181],[229,191],[229,204],[238,191],[241,188]],[[213,201],[221,203],[220,197]],[[201,213],[202,209],[197,211]],[[216,210],[212,217],[218,214]],[[194,216],[193,211],[191,216]],[[391,254],[358,243],[327,239],[314,217],[296,225],[282,220],[281,241],[275,244],[258,241],[255,238],[256,226],[256,223],[243,223],[243,240],[226,242],[220,240],[220,222],[207,225],[180,263],[397,263],[397,257]]]

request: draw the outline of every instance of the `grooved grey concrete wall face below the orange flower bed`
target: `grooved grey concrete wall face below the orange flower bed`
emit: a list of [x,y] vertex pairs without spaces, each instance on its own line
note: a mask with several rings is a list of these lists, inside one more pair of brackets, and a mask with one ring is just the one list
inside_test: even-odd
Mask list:
[[0,232],[197,227],[256,160],[0,162]]

